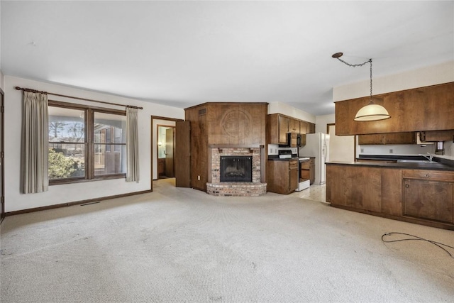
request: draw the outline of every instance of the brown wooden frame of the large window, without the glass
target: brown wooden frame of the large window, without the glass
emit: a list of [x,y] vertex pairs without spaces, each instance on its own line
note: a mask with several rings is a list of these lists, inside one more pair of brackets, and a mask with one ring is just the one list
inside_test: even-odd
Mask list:
[[[106,109],[104,107],[98,106],[89,106],[83,104],[74,104],[63,101],[49,100],[48,107],[62,107],[65,109],[77,109],[84,111],[84,121],[85,121],[85,142],[79,143],[83,144],[85,147],[84,161],[85,165],[85,175],[84,177],[70,177],[64,179],[49,179],[49,185],[57,184],[72,184],[79,182],[92,182],[99,180],[111,180],[111,179],[121,179],[126,178],[126,172],[116,173],[116,174],[106,174],[106,175],[94,175],[94,113],[104,113],[104,114],[114,114],[120,116],[126,116],[126,110],[118,109]],[[51,143],[50,141],[48,141]],[[62,142],[58,142],[62,143]],[[65,143],[62,143],[65,144]],[[99,143],[96,143],[99,144]],[[126,143],[111,143],[109,145],[126,145]]]

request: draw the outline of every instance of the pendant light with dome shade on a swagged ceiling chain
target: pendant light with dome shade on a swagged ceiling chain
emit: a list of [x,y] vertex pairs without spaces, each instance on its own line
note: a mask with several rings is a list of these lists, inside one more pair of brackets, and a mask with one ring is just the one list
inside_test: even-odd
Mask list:
[[367,60],[366,62],[360,63],[360,64],[355,64],[352,65],[350,63],[345,62],[344,60],[341,59],[341,56],[343,53],[335,53],[333,54],[333,58],[336,58],[337,60],[345,63],[346,65],[350,67],[357,67],[357,66],[362,66],[365,65],[367,62],[370,63],[370,98],[369,98],[369,104],[366,106],[362,106],[362,108],[356,113],[355,116],[355,121],[377,121],[377,120],[384,120],[384,119],[389,119],[391,116],[389,116],[388,111],[381,105],[375,104],[374,101],[372,100],[372,59]]

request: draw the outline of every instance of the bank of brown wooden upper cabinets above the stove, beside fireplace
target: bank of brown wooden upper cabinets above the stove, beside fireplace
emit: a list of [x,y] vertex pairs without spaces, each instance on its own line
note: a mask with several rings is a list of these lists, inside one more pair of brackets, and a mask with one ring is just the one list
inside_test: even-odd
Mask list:
[[283,114],[267,116],[267,143],[287,144],[287,133],[315,133],[315,124]]

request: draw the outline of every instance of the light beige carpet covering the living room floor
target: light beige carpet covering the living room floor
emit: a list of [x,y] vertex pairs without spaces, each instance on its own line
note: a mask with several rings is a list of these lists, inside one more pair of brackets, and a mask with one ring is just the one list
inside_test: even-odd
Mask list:
[[453,302],[454,231],[295,194],[155,192],[6,217],[1,302]]

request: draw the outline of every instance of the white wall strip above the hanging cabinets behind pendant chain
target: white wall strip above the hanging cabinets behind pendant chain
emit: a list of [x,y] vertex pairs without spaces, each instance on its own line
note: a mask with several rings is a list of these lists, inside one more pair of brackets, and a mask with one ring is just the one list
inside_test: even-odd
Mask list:
[[[423,67],[385,77],[373,77],[373,94],[397,92],[416,87],[454,81],[454,61]],[[333,88],[333,101],[348,100],[370,95],[370,79]]]

